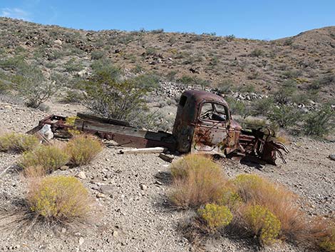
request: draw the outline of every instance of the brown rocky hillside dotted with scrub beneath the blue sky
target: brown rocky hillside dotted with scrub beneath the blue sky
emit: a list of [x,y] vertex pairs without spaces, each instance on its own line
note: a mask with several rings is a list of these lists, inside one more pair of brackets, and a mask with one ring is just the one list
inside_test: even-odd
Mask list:
[[[244,91],[276,91],[287,79],[300,91],[321,82],[322,99],[334,98],[335,27],[262,41],[234,35],[154,31],[83,31],[0,19],[1,68],[23,59],[57,72],[66,81],[110,59],[125,74],[155,73],[160,79]],[[15,62],[4,62],[12,59]]]

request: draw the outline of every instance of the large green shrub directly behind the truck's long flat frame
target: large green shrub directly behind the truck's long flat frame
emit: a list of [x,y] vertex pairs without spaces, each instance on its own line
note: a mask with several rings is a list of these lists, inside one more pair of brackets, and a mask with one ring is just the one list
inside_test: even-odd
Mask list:
[[108,69],[96,72],[85,82],[83,105],[105,118],[132,121],[145,110],[148,88],[137,81],[115,80]]

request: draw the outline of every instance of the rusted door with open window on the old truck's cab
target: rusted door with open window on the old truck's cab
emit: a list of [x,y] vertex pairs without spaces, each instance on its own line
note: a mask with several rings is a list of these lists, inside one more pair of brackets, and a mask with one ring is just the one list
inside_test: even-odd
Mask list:
[[191,152],[225,155],[230,116],[227,106],[203,101],[197,114]]

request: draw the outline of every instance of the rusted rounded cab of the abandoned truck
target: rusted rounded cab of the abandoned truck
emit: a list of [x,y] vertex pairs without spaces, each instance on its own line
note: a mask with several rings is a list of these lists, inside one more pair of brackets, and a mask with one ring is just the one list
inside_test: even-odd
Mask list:
[[241,129],[221,96],[193,90],[180,96],[172,133],[180,153],[225,156],[239,148]]

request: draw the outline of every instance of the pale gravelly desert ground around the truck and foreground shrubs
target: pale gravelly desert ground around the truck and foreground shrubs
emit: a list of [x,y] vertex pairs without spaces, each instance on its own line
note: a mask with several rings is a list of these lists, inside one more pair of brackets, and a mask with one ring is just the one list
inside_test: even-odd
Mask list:
[[[48,114],[73,115],[80,106],[53,104]],[[46,112],[0,102],[1,131],[27,131]],[[311,216],[334,216],[335,143],[294,138],[288,144],[287,164],[255,166],[239,161],[222,161],[228,176],[258,173],[283,183],[297,193]],[[90,226],[53,228],[53,231],[4,230],[0,251],[197,251],[182,237],[177,226],[190,213],[166,206],[170,190],[169,163],[157,154],[121,155],[118,148],[104,148],[93,163],[80,168],[56,171],[79,176],[96,201],[96,218]],[[16,163],[19,155],[0,153],[0,173]],[[26,182],[15,168],[0,177],[0,209],[10,209],[24,198]],[[303,251],[287,243],[259,248],[237,238],[211,238],[205,251]]]

